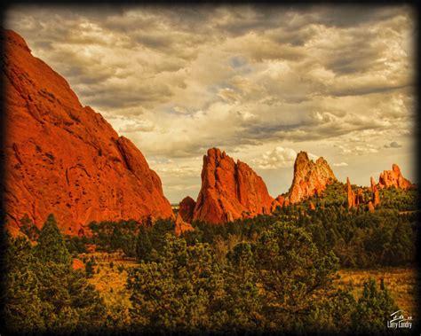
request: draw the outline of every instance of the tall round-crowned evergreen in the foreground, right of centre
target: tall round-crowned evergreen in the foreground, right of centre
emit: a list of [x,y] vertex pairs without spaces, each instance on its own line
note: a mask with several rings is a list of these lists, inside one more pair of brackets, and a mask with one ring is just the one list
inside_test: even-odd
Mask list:
[[281,222],[262,232],[254,258],[269,328],[283,325],[298,331],[310,309],[332,289],[338,258],[320,254],[306,230]]

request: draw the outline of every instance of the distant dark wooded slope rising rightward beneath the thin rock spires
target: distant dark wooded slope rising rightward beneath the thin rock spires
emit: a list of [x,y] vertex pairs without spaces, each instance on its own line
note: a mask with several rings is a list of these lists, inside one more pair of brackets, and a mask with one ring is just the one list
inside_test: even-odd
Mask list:
[[[332,251],[338,256],[341,268],[414,264],[418,231],[417,212],[411,210],[416,205],[414,191],[382,191],[387,195],[385,204],[369,212],[368,207],[347,209],[344,188],[342,184],[332,184],[322,197],[278,208],[274,215],[223,225],[193,223],[195,231],[186,232],[184,237],[189,245],[209,243],[230,251],[237,242],[254,241],[274,222],[282,221],[310,232],[320,251]],[[310,201],[316,205],[315,210],[310,210]],[[399,208],[393,204],[399,204]]]

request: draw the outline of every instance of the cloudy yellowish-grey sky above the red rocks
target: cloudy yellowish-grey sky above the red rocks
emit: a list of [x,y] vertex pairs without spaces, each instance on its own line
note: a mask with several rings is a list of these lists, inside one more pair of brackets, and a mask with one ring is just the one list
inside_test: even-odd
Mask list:
[[5,26],[130,138],[171,202],[203,154],[247,162],[272,196],[299,151],[369,184],[416,181],[416,20],[404,6],[11,7]]

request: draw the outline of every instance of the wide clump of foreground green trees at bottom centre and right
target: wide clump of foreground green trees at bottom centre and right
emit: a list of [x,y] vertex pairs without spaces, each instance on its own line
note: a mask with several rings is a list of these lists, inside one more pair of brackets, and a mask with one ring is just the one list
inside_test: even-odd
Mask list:
[[355,301],[332,284],[338,258],[277,222],[221,258],[166,234],[154,261],[129,271],[131,325],[142,332],[380,332],[396,311],[373,280]]

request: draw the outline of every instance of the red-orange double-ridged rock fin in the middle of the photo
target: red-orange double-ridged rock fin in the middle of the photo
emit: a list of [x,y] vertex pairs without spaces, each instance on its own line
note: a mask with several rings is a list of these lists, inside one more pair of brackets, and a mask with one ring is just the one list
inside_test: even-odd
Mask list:
[[240,160],[235,163],[218,148],[208,150],[203,157],[202,188],[194,220],[227,223],[270,214],[273,202],[262,178],[247,164]]

